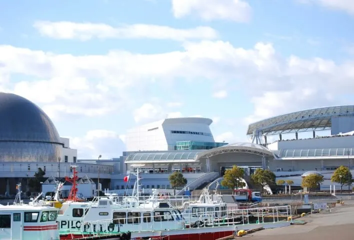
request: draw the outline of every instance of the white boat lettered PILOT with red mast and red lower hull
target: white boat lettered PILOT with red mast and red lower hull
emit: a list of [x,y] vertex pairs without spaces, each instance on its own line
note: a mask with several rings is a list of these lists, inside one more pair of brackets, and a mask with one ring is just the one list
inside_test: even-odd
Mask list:
[[[72,169],[72,180],[75,182],[77,180],[76,167],[72,166]],[[289,206],[231,211],[219,208],[218,211],[198,211],[201,217],[195,218],[192,215],[193,212],[182,212],[170,204],[168,199],[157,197],[156,191],[149,199],[140,201],[138,200],[138,172],[136,174],[135,195],[123,197],[121,202],[109,195],[97,197],[95,201],[91,202],[77,201],[74,197],[77,189],[73,183],[69,195],[72,199],[62,204],[57,215],[60,240],[82,237],[116,237],[116,239],[162,239],[168,237],[179,240],[200,238],[214,240],[230,235],[239,229],[290,224],[287,220],[287,216],[291,215]],[[206,196],[204,199],[212,199],[209,195]],[[193,207],[190,204],[188,206]],[[200,206],[206,202],[196,202],[195,204]],[[212,204],[215,209],[216,205],[223,206],[222,202],[213,202]],[[285,221],[279,220],[279,210],[284,212],[282,214]],[[213,217],[205,217],[208,214]],[[267,219],[270,217],[272,222],[265,223],[264,217]]]

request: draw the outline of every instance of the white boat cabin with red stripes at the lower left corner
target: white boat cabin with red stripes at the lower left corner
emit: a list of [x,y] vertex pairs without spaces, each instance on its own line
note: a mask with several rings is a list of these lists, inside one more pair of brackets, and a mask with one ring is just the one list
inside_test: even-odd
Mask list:
[[59,240],[56,224],[58,208],[41,205],[39,194],[28,204],[21,200],[21,184],[13,204],[0,204],[0,239],[1,240]]

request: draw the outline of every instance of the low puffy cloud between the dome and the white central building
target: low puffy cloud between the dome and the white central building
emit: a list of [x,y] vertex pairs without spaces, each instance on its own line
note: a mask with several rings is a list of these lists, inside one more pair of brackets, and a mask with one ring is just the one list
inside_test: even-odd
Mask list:
[[125,149],[125,135],[105,129],[89,130],[81,137],[70,137],[70,147],[77,149],[80,159],[110,159],[121,155]]

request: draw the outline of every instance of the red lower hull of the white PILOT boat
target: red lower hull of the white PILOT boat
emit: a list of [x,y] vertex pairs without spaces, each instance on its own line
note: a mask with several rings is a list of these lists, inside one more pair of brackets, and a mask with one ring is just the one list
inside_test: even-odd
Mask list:
[[[220,231],[220,232],[205,232],[205,233],[193,233],[193,234],[180,234],[180,235],[166,235],[166,236],[153,236],[154,240],[215,240],[220,237],[232,235],[233,231]],[[60,240],[72,240],[82,237],[92,236],[90,234],[68,234],[60,235]],[[142,239],[142,238],[136,238]]]

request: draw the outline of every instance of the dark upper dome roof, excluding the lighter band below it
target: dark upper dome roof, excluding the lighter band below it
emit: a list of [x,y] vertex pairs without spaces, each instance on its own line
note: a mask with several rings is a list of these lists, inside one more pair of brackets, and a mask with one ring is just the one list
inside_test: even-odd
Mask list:
[[50,118],[33,102],[0,92],[0,141],[60,142]]

